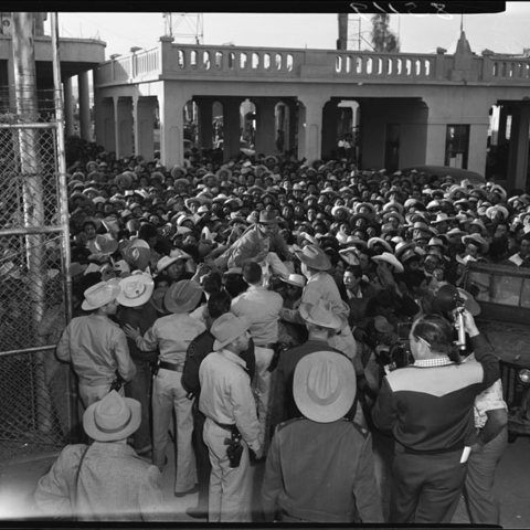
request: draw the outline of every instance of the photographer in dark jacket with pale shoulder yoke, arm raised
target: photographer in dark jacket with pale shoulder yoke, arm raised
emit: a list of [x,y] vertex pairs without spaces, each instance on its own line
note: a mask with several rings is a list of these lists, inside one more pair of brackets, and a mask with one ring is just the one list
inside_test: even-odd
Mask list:
[[384,378],[372,412],[374,425],[395,441],[392,522],[451,522],[476,442],[475,398],[500,377],[471,314],[456,310],[478,362],[460,364],[453,326],[425,315],[409,336],[414,364]]

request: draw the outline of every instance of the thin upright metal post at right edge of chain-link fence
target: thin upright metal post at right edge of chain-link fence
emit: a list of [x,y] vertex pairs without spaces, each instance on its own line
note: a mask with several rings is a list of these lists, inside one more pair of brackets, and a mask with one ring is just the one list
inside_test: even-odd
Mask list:
[[[66,325],[72,319],[72,254],[70,248],[70,223],[68,223],[68,195],[66,184],[66,152],[64,130],[64,102],[61,91],[61,60],[59,53],[59,15],[51,13],[52,53],[53,53],[53,86],[55,99],[55,121],[57,124],[57,161],[59,161],[59,209],[61,226],[63,229],[62,265],[64,272],[64,304]],[[73,378],[68,381],[70,393],[67,400],[67,414],[70,431],[81,437],[77,416],[77,389]]]

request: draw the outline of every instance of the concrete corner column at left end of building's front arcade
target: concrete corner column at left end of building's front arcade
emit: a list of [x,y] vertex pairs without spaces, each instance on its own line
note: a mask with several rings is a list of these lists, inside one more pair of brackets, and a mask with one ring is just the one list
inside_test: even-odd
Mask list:
[[160,158],[168,168],[181,166],[184,159],[184,105],[191,94],[177,83],[163,82],[160,105]]

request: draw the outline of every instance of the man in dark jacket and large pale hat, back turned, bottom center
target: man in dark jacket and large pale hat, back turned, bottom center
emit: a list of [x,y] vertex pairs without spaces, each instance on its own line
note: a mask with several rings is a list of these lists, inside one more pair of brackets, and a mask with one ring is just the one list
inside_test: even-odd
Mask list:
[[262,485],[266,522],[381,522],[368,430],[344,418],[356,399],[344,356],[315,351],[295,369],[293,393],[303,417],[280,424]]

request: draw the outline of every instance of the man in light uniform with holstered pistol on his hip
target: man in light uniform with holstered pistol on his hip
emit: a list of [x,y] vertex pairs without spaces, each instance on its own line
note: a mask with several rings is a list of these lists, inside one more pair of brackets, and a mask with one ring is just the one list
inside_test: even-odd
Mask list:
[[[226,314],[211,328],[214,352],[199,369],[200,411],[206,416],[204,442],[210,449],[209,522],[251,522],[252,477],[248,447],[263,456],[251,380],[241,353],[248,348],[251,321]],[[230,467],[226,441],[240,439],[241,460]],[[234,464],[232,464],[234,465]]]

